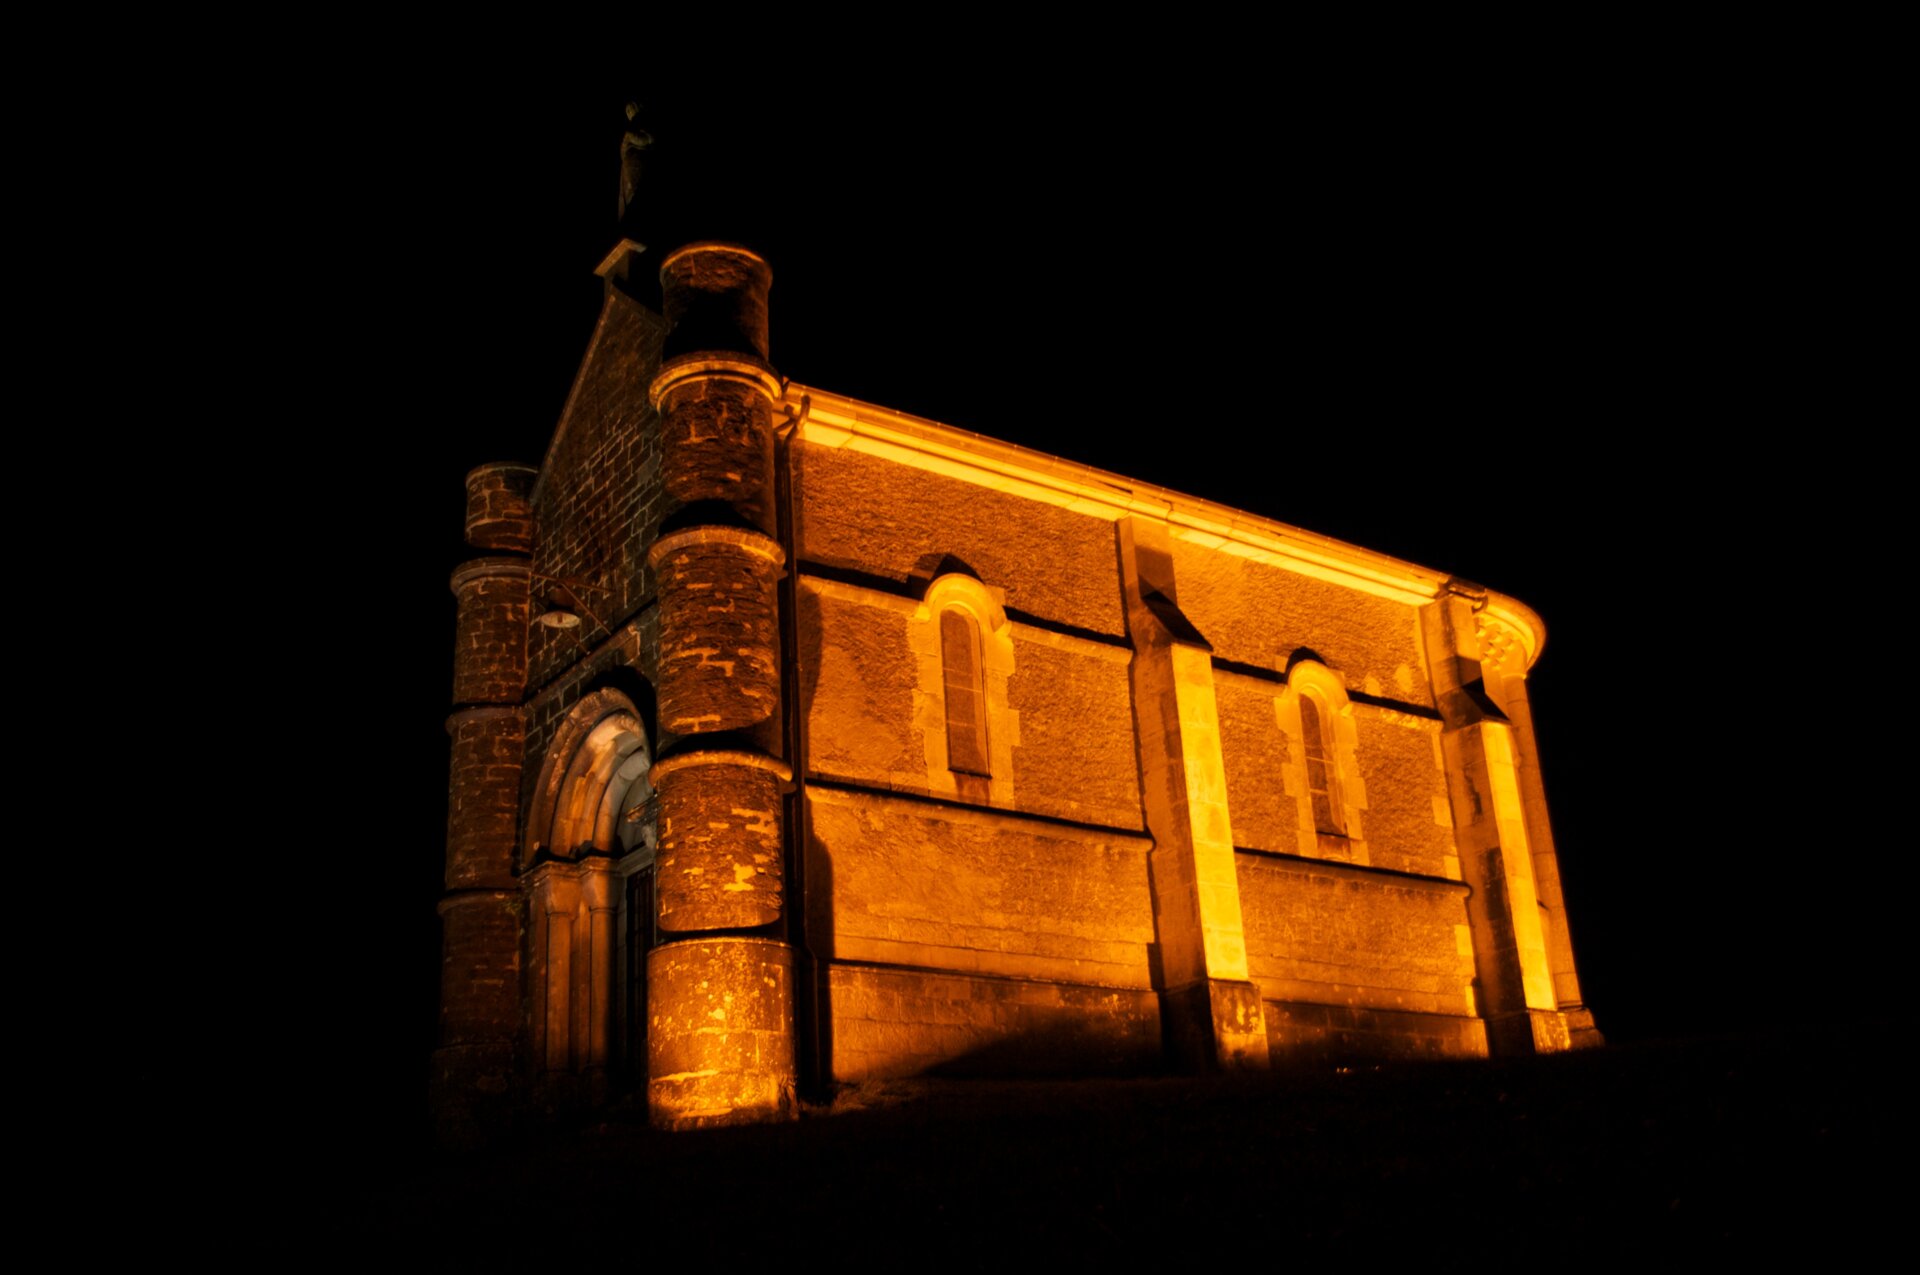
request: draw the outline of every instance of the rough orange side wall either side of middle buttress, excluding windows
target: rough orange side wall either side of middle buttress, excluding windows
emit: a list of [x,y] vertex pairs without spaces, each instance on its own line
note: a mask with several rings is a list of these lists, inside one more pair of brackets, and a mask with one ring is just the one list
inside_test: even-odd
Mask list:
[[[1165,974],[1116,526],[852,447],[797,447],[793,472],[806,929],[826,960],[831,1075],[1164,1066],[1142,1025]],[[1179,536],[1171,549],[1177,607],[1213,647],[1238,924],[1271,1054],[1484,1054],[1417,607]],[[1014,616],[989,734],[1018,743],[995,795],[943,787],[929,747],[941,687],[922,597],[947,555]],[[1294,657],[1346,687],[1329,709],[1348,732],[1346,837],[1315,831],[1302,787]]]

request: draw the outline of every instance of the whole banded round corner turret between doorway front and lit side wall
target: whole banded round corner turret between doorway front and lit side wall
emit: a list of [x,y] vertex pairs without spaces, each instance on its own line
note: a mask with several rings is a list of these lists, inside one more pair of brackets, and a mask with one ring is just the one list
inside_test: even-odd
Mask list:
[[647,1106],[660,1127],[795,1112],[785,941],[772,273],[732,244],[666,257],[660,480],[676,511],[647,563],[660,609],[655,762],[664,941],[647,956]]

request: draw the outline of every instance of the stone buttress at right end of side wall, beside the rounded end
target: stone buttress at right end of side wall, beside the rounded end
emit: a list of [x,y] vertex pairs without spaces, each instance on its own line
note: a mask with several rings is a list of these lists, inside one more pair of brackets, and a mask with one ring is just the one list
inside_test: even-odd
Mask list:
[[1440,751],[1453,806],[1461,878],[1473,889],[1475,998],[1496,1054],[1569,1048],[1553,993],[1548,918],[1534,883],[1534,854],[1521,797],[1513,728],[1482,670],[1475,611],[1486,589],[1450,584],[1421,613],[1427,662],[1444,730]]

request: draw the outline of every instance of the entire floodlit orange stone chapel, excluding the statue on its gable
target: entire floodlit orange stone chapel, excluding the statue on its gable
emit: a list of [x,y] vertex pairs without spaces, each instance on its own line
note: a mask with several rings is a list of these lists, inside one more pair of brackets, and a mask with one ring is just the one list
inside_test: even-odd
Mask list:
[[545,463],[468,478],[449,1137],[1597,1043],[1526,607],[785,382],[764,261],[660,317],[637,252]]

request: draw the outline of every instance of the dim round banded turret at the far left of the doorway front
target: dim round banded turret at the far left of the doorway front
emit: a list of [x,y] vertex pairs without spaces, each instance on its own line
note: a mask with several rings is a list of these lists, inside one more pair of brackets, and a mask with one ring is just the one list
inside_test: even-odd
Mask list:
[[522,904],[513,879],[526,724],[526,624],[534,470],[467,476],[467,540],[490,551],[453,572],[457,599],[445,893],[440,899],[440,1135],[472,1143],[511,1118],[520,1037]]

